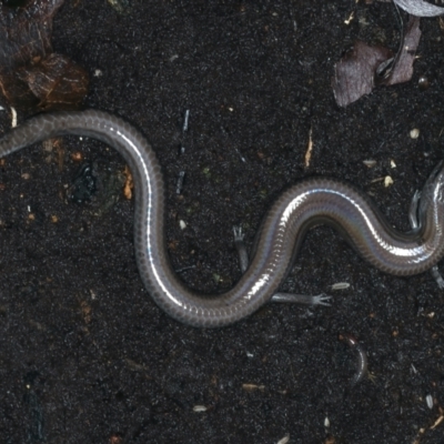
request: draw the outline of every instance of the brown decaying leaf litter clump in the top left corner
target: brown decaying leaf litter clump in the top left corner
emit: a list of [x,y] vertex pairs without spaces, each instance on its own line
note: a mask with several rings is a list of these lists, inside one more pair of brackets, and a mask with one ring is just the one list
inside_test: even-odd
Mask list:
[[52,52],[52,18],[64,0],[0,6],[0,88],[10,105],[27,111],[74,109],[88,92],[88,73]]

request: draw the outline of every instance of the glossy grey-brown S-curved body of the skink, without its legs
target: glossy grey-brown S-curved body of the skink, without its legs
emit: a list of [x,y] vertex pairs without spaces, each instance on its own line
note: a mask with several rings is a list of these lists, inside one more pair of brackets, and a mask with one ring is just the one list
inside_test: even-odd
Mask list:
[[113,147],[129,164],[135,186],[134,245],[141,279],[157,304],[178,321],[214,327],[236,322],[265,304],[287,275],[306,231],[326,223],[372,265],[412,275],[444,254],[444,170],[426,182],[420,228],[393,229],[372,200],[344,182],[303,180],[274,202],[258,233],[248,271],[224,294],[209,296],[183,285],[170,265],[164,242],[164,183],[147,139],[122,119],[95,110],[38,115],[0,140],[0,157],[44,139],[78,134]]

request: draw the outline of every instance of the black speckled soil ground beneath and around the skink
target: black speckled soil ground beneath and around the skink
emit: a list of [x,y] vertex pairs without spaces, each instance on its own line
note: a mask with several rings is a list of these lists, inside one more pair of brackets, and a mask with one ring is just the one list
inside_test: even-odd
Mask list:
[[[410,200],[443,157],[444,34],[438,19],[422,20],[412,81],[340,109],[334,63],[356,39],[394,51],[400,41],[393,6],[363,3],[132,0],[120,16],[104,0],[68,0],[56,16],[54,50],[91,75],[85,105],[133,122],[159,154],[167,243],[175,269],[194,266],[181,273],[190,287],[233,285],[232,226],[251,245],[301,178],[350,181],[408,230]],[[65,196],[79,152],[98,175],[83,204]],[[269,304],[224,329],[182,325],[139,278],[123,170],[115,152],[79,138],[1,165],[0,442],[444,442],[444,422],[431,428],[444,405],[444,295],[428,273],[385,275],[317,228],[284,289],[332,294],[331,307]],[[389,188],[375,181],[386,175]],[[333,292],[337,282],[350,289]],[[354,387],[356,354],[341,333],[369,355],[371,377]]]

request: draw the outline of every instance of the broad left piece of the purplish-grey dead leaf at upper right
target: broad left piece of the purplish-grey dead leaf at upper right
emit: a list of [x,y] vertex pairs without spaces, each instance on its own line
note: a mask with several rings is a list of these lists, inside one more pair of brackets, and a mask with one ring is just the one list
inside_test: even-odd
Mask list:
[[357,40],[353,50],[334,68],[332,87],[337,104],[346,107],[362,95],[369,94],[374,87],[376,68],[391,57],[391,50],[370,47]]

